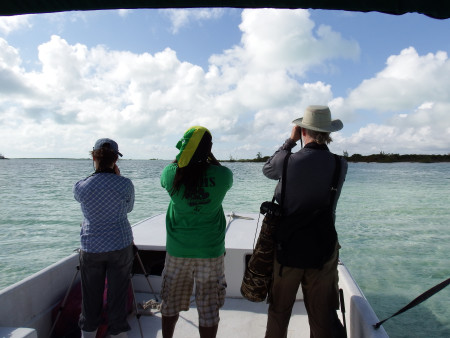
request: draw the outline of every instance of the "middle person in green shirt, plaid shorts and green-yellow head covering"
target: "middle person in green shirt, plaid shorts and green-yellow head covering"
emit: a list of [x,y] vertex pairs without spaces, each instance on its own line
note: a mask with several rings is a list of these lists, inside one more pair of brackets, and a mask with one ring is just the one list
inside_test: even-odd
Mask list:
[[222,201],[233,185],[230,169],[211,153],[212,136],[189,128],[176,145],[179,153],[161,174],[171,201],[166,214],[166,262],[161,286],[162,333],[173,336],[180,311],[195,301],[202,338],[214,338],[225,301],[226,220]]

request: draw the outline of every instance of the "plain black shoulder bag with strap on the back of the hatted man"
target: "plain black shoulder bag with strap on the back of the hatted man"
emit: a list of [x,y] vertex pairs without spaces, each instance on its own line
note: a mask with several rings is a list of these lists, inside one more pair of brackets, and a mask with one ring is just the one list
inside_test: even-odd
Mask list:
[[283,216],[275,232],[276,256],[281,266],[321,269],[337,244],[333,205],[340,176],[341,161],[334,155],[336,168],[330,189],[330,203],[315,210],[301,210]]

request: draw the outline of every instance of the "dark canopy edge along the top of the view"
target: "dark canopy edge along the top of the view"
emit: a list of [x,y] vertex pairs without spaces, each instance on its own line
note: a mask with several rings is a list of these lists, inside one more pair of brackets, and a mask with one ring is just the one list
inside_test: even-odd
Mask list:
[[305,8],[450,17],[448,0],[0,0],[0,15],[137,8]]

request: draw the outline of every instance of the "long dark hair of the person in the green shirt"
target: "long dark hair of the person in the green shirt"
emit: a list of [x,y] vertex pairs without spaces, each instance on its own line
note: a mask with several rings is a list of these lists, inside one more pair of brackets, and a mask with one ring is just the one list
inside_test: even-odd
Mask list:
[[[209,160],[210,157],[214,158],[211,154],[211,140],[211,134],[204,133],[189,164],[183,168],[177,167],[172,189],[170,190],[171,196],[179,192],[183,185],[185,187],[183,194],[184,198],[189,198],[198,191],[198,188],[201,186],[206,176],[208,166],[210,164],[216,164],[215,162],[217,162]],[[176,163],[176,160],[174,163]]]

